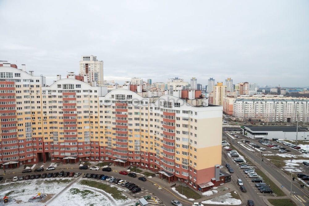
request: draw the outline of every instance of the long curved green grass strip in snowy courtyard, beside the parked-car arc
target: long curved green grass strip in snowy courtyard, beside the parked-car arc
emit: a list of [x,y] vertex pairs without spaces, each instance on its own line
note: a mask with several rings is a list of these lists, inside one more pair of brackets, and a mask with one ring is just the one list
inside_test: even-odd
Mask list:
[[105,192],[112,195],[115,200],[127,200],[128,198],[125,195],[122,195],[122,191],[117,187],[111,187],[108,184],[92,181],[92,180],[81,180],[79,182],[81,185],[87,185],[89,187],[95,187],[100,190],[104,190]]

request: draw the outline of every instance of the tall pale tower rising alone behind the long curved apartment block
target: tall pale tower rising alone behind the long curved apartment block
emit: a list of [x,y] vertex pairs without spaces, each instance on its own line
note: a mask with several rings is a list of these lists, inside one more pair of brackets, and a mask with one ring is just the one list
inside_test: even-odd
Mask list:
[[96,81],[99,86],[104,85],[103,61],[98,61],[96,56],[82,56],[79,61],[79,74],[87,76],[90,82]]

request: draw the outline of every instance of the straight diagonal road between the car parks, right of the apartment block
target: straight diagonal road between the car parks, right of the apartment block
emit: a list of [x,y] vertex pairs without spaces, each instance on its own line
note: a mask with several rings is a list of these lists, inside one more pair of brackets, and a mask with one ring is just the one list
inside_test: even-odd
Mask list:
[[[224,133],[224,132],[223,132]],[[237,141],[236,139],[231,139],[228,135],[226,135],[224,133],[225,136],[227,136],[231,143],[236,146],[236,148],[238,148],[240,150],[240,152],[242,152],[246,157],[249,157],[251,158],[254,162],[260,162],[260,156],[257,156],[256,154],[258,154],[258,152],[251,152],[243,147],[239,147],[239,144],[237,144]],[[257,165],[256,165],[257,166]],[[269,178],[273,178],[275,180],[277,180],[281,185],[283,185],[286,189],[290,190],[290,178],[287,177],[287,175],[283,176],[280,172],[278,172],[276,169],[274,169],[271,165],[265,163],[265,162],[262,162],[261,164],[261,167],[264,168],[266,171],[268,171],[269,173]],[[266,174],[268,175],[268,174]],[[280,187],[280,186],[279,186]],[[287,194],[289,195],[289,194]],[[309,206],[309,197],[308,195],[303,191],[301,190],[298,185],[295,186],[294,184],[292,184],[292,195],[294,196],[294,199],[297,198],[299,200],[299,198],[302,198],[303,200],[308,200],[306,202],[303,202],[302,204],[300,205],[308,205]]]

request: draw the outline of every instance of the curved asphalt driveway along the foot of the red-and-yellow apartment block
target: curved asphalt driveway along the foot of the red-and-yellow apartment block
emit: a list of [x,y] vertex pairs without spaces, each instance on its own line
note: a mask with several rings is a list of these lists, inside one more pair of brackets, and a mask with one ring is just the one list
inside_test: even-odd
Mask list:
[[[108,175],[108,176],[113,176],[115,178],[121,178],[121,179],[124,179],[126,181],[129,181],[129,182],[132,182],[132,183],[135,183],[136,185],[138,185],[139,187],[142,188],[142,191],[144,191],[145,189],[149,191],[149,193],[154,193],[158,198],[159,200],[161,200],[163,202],[163,204],[165,205],[171,205],[171,200],[178,200],[174,195],[172,195],[170,192],[164,190],[163,188],[162,189],[158,189],[157,187],[159,187],[158,185],[155,186],[152,182],[150,181],[146,181],[146,182],[143,182],[141,180],[138,180],[138,177],[136,178],[133,178],[133,177],[129,177],[127,175],[122,175],[122,174],[119,174],[118,172],[106,172],[106,171],[102,171],[101,170],[79,170],[78,168],[73,168],[73,169],[70,169],[70,167],[72,167],[73,165],[67,165],[69,167],[69,169],[67,170],[66,168],[57,168],[55,170],[49,170],[49,171],[42,171],[42,172],[31,172],[31,173],[15,173],[14,175],[13,174],[6,174],[5,176],[3,176],[3,180],[2,180],[2,183],[5,182],[5,179],[10,179],[12,180],[13,176],[26,176],[26,175],[32,175],[32,174],[43,174],[43,173],[55,173],[55,172],[61,172],[61,170],[64,170],[65,172],[80,172],[80,173],[93,173],[93,174],[104,174],[104,175]],[[113,169],[113,167],[111,166],[111,168]],[[59,177],[57,177],[59,178]],[[46,179],[53,179],[53,178],[46,178]],[[83,179],[89,179],[89,178],[83,178]],[[154,181],[155,182],[155,178],[147,178],[151,181]],[[6,181],[8,182],[8,181]],[[103,182],[103,180],[102,180]],[[106,182],[106,181],[105,181]],[[114,184],[114,183],[111,183],[111,184]],[[129,192],[130,195],[133,195],[132,192]],[[142,195],[145,195],[145,194],[142,194]],[[141,195],[141,196],[142,196]],[[181,202],[181,204],[183,204],[184,206],[189,206],[191,204],[188,204],[186,202],[183,202],[181,200],[178,200]],[[191,202],[188,200],[188,202]]]

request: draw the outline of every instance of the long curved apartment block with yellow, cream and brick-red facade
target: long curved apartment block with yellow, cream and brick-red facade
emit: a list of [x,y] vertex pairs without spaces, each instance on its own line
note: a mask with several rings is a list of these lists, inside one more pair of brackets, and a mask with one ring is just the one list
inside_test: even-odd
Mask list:
[[148,97],[142,85],[107,92],[78,79],[58,75],[46,86],[43,76],[0,64],[3,168],[107,161],[158,171],[200,191],[224,183],[222,107],[208,106],[201,91]]

